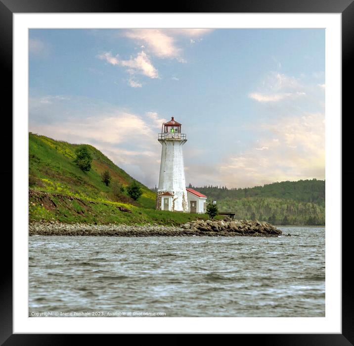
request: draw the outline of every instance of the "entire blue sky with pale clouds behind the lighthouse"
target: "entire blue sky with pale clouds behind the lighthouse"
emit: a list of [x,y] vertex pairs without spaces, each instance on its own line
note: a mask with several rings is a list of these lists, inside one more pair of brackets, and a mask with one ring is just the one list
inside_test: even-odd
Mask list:
[[154,187],[172,116],[187,185],[325,179],[325,30],[30,30],[29,131]]

